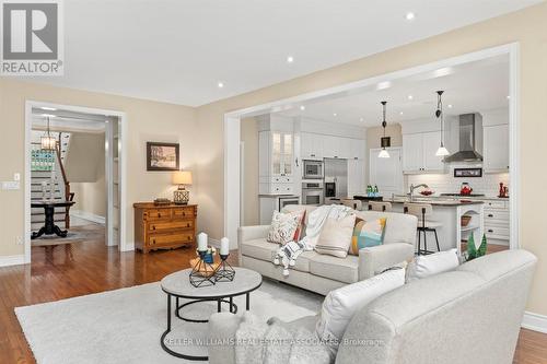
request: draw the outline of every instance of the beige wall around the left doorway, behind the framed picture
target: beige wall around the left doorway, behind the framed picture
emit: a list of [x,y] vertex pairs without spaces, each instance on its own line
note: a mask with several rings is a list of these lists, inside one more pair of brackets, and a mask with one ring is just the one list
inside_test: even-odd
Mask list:
[[[146,142],[181,143],[181,165],[193,168],[197,150],[196,110],[190,107],[54,87],[0,78],[0,180],[11,180],[19,172],[24,176],[25,101],[96,107],[124,111],[127,115],[127,240],[133,239],[132,202],[149,201],[158,196],[172,198],[171,173],[147,172]],[[208,145],[208,144],[207,144]],[[15,151],[15,152],[14,152]],[[23,179],[24,180],[24,179]],[[218,181],[221,183],[221,181]],[[195,188],[194,188],[195,189]],[[191,195],[196,201],[197,193]],[[21,255],[23,246],[16,237],[24,230],[24,189],[0,190],[0,256]],[[9,206],[10,208],[5,208]]]

